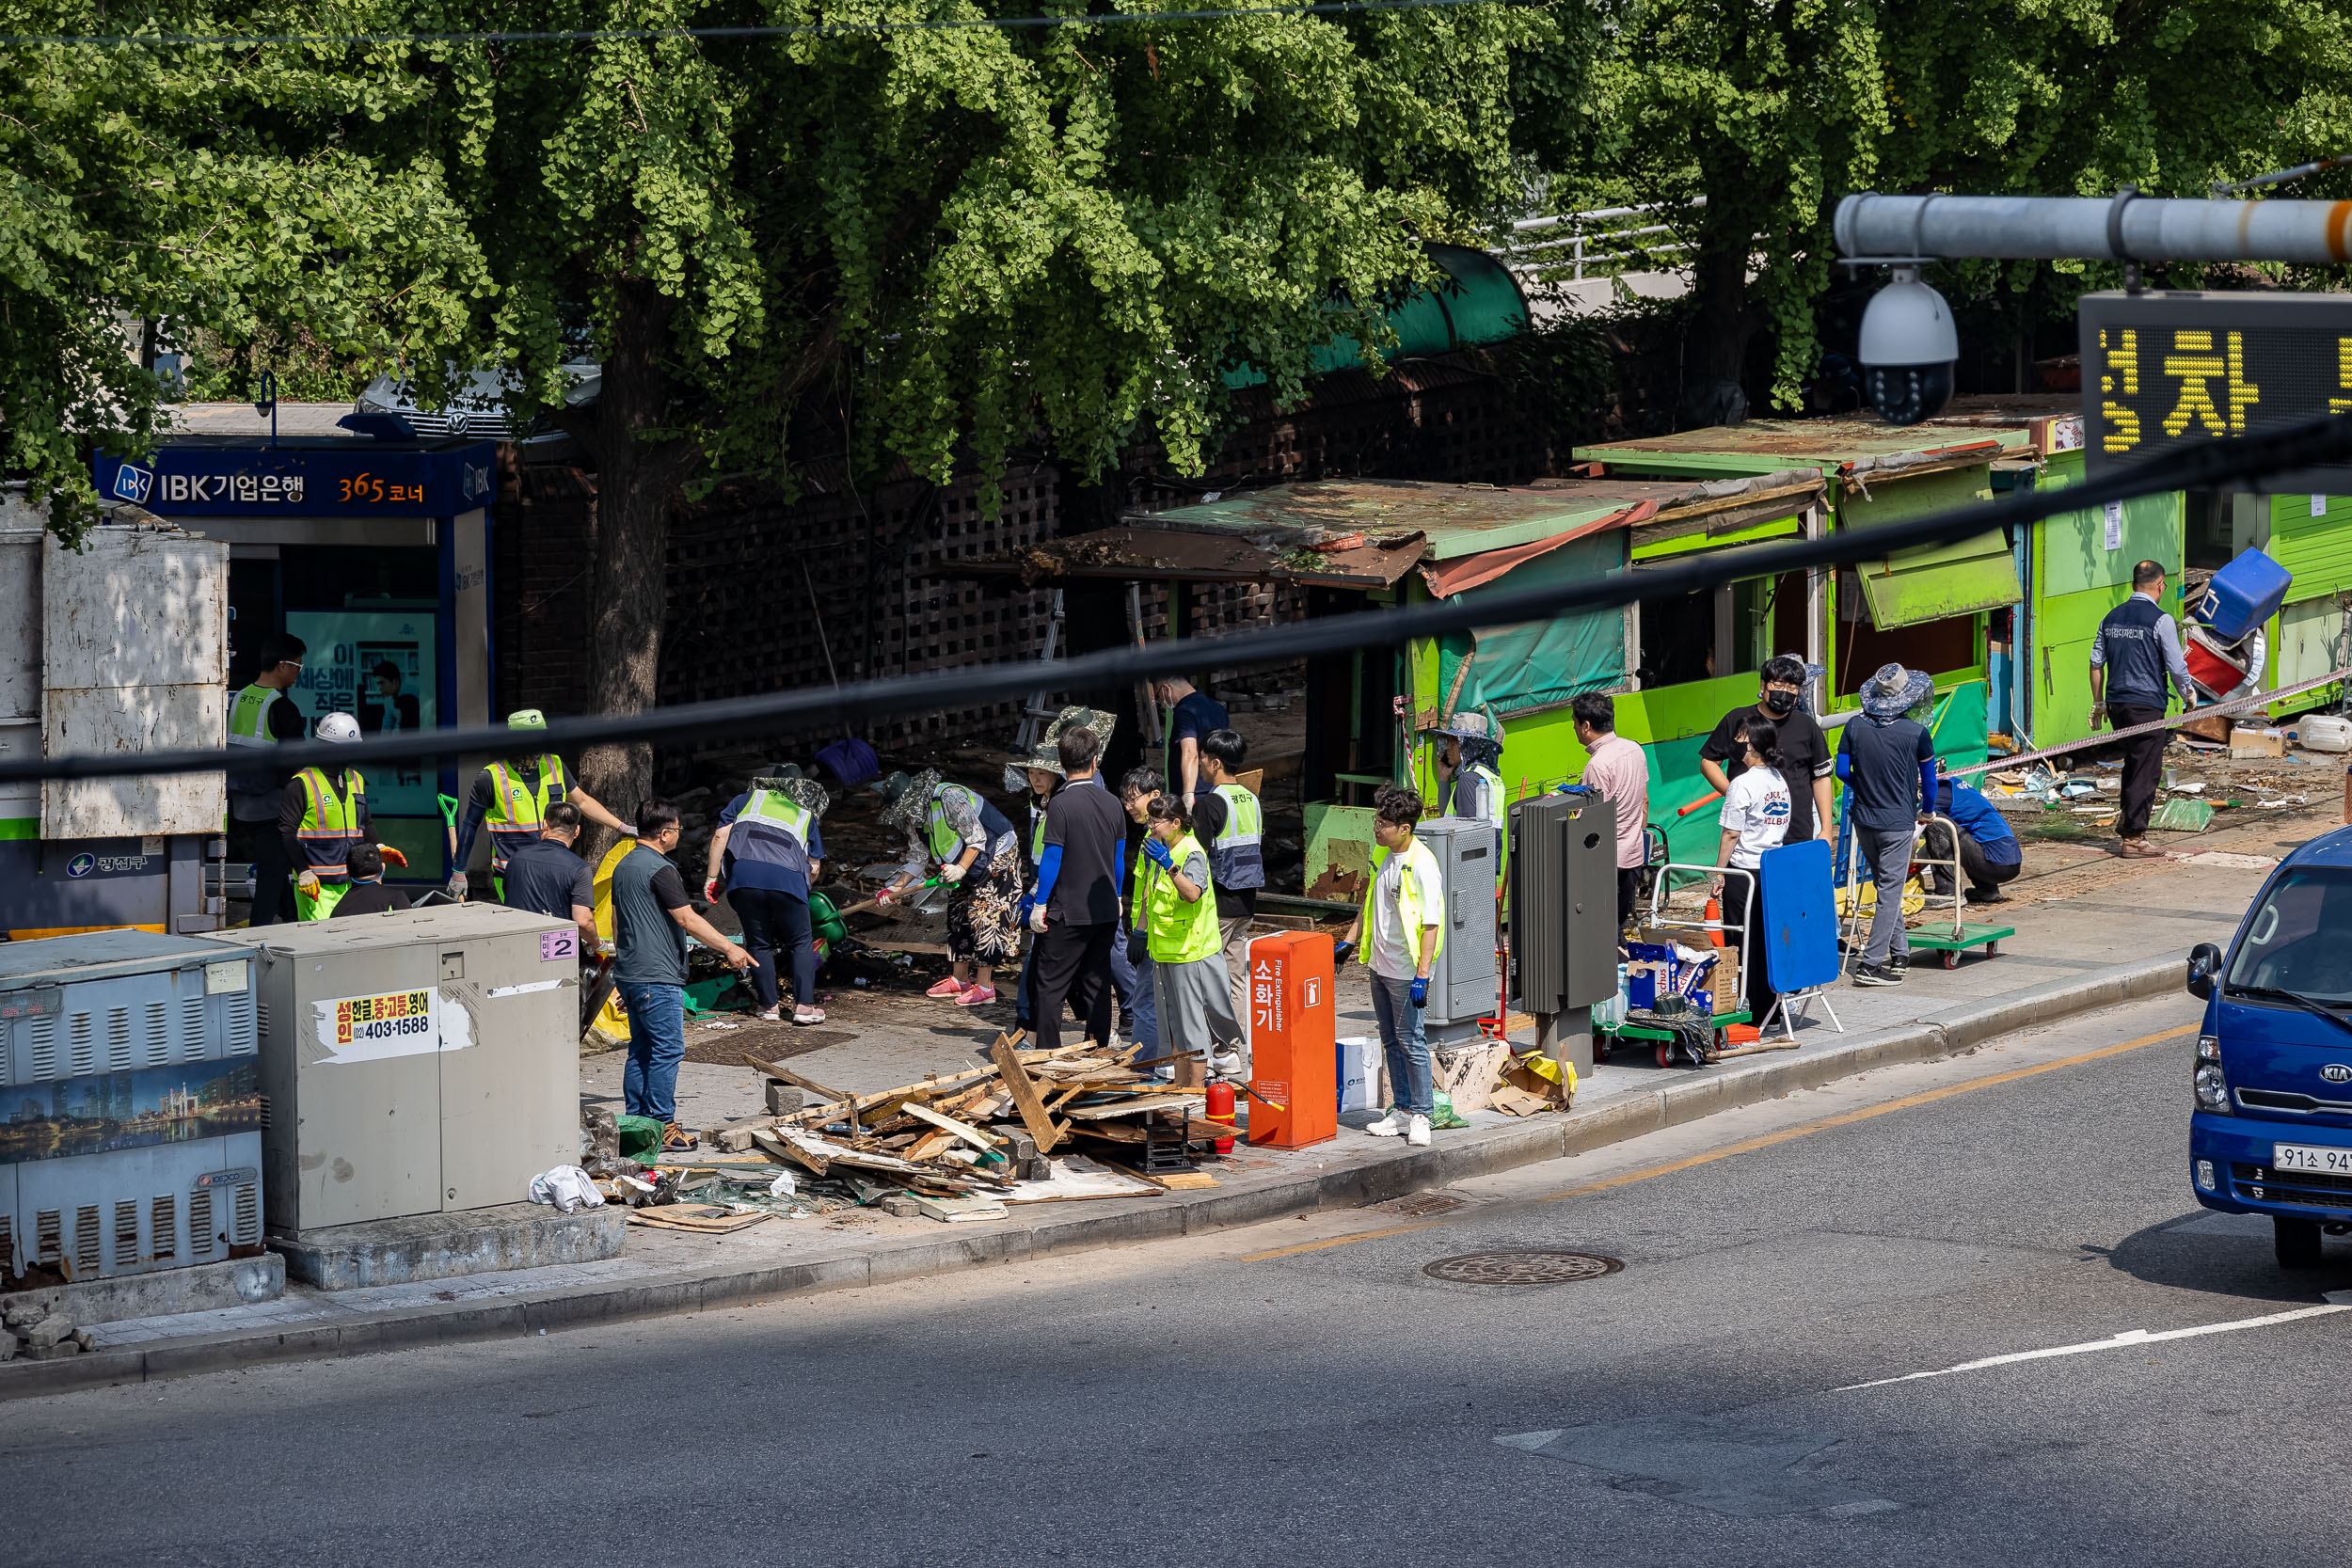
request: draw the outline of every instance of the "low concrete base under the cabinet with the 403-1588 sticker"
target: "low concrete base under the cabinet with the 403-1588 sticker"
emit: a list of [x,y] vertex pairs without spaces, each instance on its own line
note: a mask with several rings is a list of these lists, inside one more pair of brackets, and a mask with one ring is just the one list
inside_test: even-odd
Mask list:
[[270,1237],[287,1274],[322,1291],[397,1286],[553,1262],[619,1258],[628,1208],[607,1204],[555,1213],[541,1204],[501,1204],[466,1213],[426,1213],[367,1225],[332,1225]]

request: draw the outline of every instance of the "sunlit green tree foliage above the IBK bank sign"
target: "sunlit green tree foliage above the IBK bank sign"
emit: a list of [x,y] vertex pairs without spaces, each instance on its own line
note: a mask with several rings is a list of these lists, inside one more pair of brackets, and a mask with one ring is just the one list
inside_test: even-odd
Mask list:
[[[143,14],[146,31],[282,26]],[[103,5],[0,5],[7,33],[122,26]],[[153,430],[158,341],[282,336],[388,362],[463,339],[489,277],[430,150],[397,134],[426,106],[430,85],[383,52],[0,49],[0,475],[78,534],[87,447]]]

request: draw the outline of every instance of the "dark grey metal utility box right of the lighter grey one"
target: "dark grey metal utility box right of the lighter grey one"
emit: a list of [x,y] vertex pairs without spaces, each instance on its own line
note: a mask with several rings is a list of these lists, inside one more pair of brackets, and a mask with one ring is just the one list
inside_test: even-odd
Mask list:
[[1564,1013],[1616,997],[1616,806],[1536,795],[1510,806],[1510,999]]

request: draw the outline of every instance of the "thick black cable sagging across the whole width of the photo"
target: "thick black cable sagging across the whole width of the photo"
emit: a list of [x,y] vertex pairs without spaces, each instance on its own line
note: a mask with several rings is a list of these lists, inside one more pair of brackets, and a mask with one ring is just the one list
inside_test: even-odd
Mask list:
[[[2352,458],[2352,414],[2331,414],[2326,418],[2288,425],[2267,435],[2199,442],[2197,447],[2173,456],[2138,463],[2105,480],[2091,480],[2067,489],[2018,491],[2011,498],[1994,501],[1990,505],[1964,505],[1945,512],[1931,512],[1926,517],[1912,517],[1907,522],[1849,529],[1823,538],[1795,538],[1785,543],[1719,550],[1679,567],[1613,571],[1581,583],[1522,588],[1517,592],[1482,595],[1479,599],[1454,599],[1381,609],[1357,616],[1296,621],[1263,632],[1188,637],[1181,642],[1155,642],[1141,649],[1103,649],[1101,654],[1082,654],[1077,658],[1058,661],[1051,670],[1051,682],[1061,691],[1127,686],[1152,675],[1197,670],[1204,663],[1214,663],[1218,668],[1291,663],[1310,654],[1338,654],[1374,644],[1397,644],[1409,637],[1437,637],[1442,632],[1463,632],[1477,625],[1545,621],[1569,609],[1604,609],[1613,604],[1630,604],[1635,599],[1698,592],[1703,588],[1717,588],[1740,578],[1884,559],[1896,550],[1957,543],[2009,524],[2039,522],[2042,517],[2053,517],[2058,512],[2091,510],[2105,505],[2107,501],[2131,501],[2133,496],[2154,496],[2176,489],[2220,489],[2232,482],[2258,480],[2272,473],[2293,473],[2345,458]],[[532,731],[529,745],[534,750],[569,750],[576,745],[600,743],[689,738],[717,741],[722,736],[840,726],[887,712],[1002,703],[1028,696],[1037,689],[1037,679],[1040,668],[1035,663],[990,663],[934,675],[866,679],[851,686],[811,686],[807,691],[776,691],[764,696],[722,698],[713,703],[680,703],[673,708],[652,708],[637,715],[550,719],[546,731]],[[270,748],[268,764],[270,769],[367,769],[379,762],[449,762],[466,755],[503,757],[513,748],[515,731],[503,724],[473,724],[466,729],[397,731],[393,736],[376,736],[350,745],[327,741],[289,741]],[[0,783],[35,778],[216,773],[252,764],[254,752],[249,748],[188,748],[174,752],[139,752],[129,757],[120,752],[80,752],[68,757],[0,762]]]

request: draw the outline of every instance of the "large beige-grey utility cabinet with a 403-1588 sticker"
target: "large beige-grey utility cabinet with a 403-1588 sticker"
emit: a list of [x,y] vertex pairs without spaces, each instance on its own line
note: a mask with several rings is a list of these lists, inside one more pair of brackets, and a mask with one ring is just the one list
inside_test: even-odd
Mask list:
[[261,957],[273,1232],[520,1204],[579,1159],[572,922],[468,903],[221,940]]

